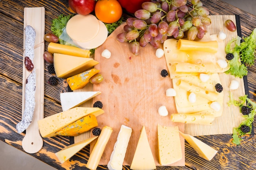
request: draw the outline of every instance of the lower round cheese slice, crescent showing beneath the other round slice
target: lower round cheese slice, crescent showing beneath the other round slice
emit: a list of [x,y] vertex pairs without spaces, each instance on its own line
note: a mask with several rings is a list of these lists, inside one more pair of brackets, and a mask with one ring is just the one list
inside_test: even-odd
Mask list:
[[108,29],[107,29],[106,25],[101,21],[99,21],[99,25],[100,25],[99,33],[92,40],[87,41],[87,42],[79,42],[79,41],[73,40],[73,42],[82,49],[97,48],[98,46],[103,44],[106,41],[106,39],[108,38]]

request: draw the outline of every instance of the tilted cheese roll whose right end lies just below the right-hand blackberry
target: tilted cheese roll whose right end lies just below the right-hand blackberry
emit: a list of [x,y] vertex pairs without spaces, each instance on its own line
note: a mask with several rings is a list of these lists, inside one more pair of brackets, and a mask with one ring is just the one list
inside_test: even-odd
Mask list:
[[207,90],[205,88],[200,88],[199,86],[196,86],[195,84],[186,82],[182,79],[178,80],[176,85],[186,91],[193,92],[196,95],[204,97],[210,101],[216,101],[218,99],[217,93]]

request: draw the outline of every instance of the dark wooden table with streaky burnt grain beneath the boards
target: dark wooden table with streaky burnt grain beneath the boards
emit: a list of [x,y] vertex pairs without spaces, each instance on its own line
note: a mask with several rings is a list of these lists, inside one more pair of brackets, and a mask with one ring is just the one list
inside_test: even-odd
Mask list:
[[[243,36],[249,36],[256,28],[256,16],[246,13],[220,0],[203,0],[210,15],[240,15]],[[71,14],[67,0],[0,0],[0,140],[22,150],[24,133],[18,134],[16,124],[21,120],[22,108],[22,55],[24,7],[45,7],[45,32],[49,33],[52,19],[60,14]],[[45,43],[45,50],[47,47]],[[45,70],[47,63],[45,63]],[[59,94],[67,90],[67,82],[61,80],[57,86],[50,86],[51,75],[45,72],[45,117],[62,111]],[[256,101],[256,64],[249,67],[249,98]],[[254,119],[254,129],[256,127]],[[221,127],[220,127],[221,128]],[[169,170],[254,170],[256,169],[256,136],[245,137],[240,146],[231,142],[231,134],[200,136],[198,139],[218,150],[217,155],[206,161],[198,157],[191,146],[185,143],[185,167],[157,167]],[[81,169],[88,160],[88,147],[72,157],[72,162],[61,165],[54,155],[70,144],[69,137],[44,138],[42,150],[31,156],[58,170]],[[106,169],[106,166],[100,166]],[[125,167],[129,168],[129,167]]]

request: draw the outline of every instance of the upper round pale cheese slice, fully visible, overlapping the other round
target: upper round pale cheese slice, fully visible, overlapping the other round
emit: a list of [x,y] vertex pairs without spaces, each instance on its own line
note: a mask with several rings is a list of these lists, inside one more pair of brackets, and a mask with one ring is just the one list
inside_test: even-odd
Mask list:
[[67,22],[67,35],[72,40],[87,42],[96,37],[99,33],[99,20],[92,14],[77,14]]

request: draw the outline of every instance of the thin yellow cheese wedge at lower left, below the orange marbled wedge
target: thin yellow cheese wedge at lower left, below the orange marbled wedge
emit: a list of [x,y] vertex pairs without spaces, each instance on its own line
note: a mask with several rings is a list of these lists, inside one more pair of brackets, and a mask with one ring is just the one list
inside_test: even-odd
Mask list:
[[90,144],[96,138],[97,138],[97,136],[91,137],[89,139],[85,139],[78,143],[67,146],[67,147],[63,148],[62,150],[56,152],[55,155],[58,157],[58,160],[61,163],[64,163],[65,161],[70,159],[72,156],[74,156],[77,152],[79,152],[81,149],[83,149],[85,146]]

